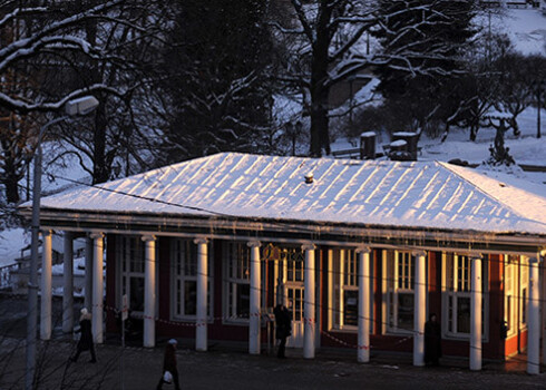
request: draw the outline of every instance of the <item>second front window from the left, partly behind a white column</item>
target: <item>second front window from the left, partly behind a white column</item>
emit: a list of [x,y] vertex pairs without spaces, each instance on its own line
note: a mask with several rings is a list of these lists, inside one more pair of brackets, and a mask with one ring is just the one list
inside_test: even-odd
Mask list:
[[[174,302],[173,316],[179,320],[195,320],[197,315],[197,245],[191,240],[175,238],[170,241],[172,262],[170,266],[174,271]],[[208,287],[207,287],[207,308],[208,316],[212,316],[211,296],[211,280],[213,270],[213,256],[208,254]]]

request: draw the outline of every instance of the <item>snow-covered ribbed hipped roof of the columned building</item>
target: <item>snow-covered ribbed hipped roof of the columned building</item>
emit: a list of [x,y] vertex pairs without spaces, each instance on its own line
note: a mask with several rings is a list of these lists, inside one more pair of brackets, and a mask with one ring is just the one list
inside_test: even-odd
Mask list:
[[546,234],[545,193],[438,162],[223,153],[74,188],[42,207]]

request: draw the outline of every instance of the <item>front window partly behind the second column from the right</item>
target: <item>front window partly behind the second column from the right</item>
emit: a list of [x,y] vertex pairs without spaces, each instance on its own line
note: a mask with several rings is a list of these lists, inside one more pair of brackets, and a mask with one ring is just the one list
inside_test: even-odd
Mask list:
[[[442,277],[442,292],[443,292],[443,315],[446,333],[454,337],[468,338],[470,335],[470,295],[471,295],[471,260],[465,255],[447,253],[442,256],[443,262],[443,277]],[[481,261],[481,291],[482,291],[482,304],[481,304],[481,331],[484,337],[487,320],[487,304],[488,300],[488,283],[487,283],[487,264],[488,262]]]

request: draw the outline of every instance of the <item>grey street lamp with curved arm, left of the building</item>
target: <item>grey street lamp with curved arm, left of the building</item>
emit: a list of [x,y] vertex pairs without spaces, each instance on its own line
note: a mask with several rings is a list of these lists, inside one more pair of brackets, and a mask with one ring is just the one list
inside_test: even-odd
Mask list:
[[45,124],[38,133],[35,150],[35,178],[32,188],[32,241],[30,256],[30,274],[28,283],[28,316],[27,316],[27,370],[25,388],[32,390],[36,372],[36,334],[38,332],[38,236],[40,234],[40,193],[41,193],[41,139],[46,130],[72,116],[81,116],[97,108],[99,101],[94,96],[85,96],[68,101],[65,105],[66,115]]

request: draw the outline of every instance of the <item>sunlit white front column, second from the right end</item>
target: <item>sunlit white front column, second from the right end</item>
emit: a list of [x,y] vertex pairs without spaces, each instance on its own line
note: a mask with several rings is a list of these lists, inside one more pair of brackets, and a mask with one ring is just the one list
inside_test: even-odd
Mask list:
[[481,370],[481,257],[471,259],[470,370]]

